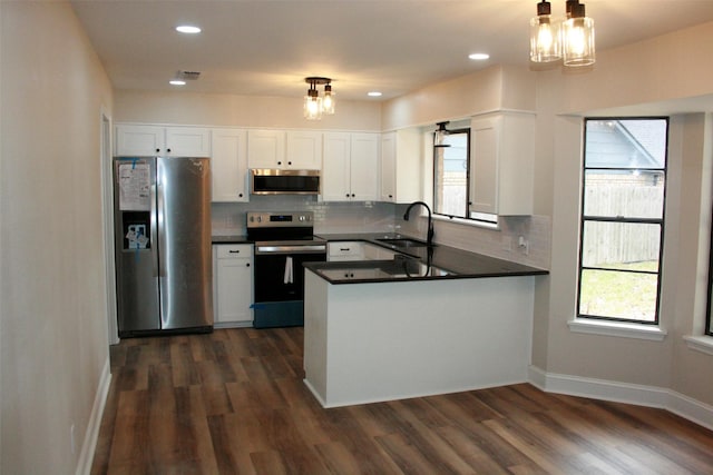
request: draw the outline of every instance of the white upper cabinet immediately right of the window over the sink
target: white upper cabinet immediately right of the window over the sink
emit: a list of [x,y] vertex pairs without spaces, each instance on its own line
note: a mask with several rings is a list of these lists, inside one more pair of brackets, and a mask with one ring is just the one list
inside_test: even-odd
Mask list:
[[494,113],[470,122],[470,211],[533,214],[535,116]]

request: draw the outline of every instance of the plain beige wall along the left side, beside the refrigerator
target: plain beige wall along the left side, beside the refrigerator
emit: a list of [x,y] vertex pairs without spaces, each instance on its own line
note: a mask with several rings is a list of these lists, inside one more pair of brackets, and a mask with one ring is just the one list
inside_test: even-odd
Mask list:
[[68,3],[0,12],[0,472],[69,474],[108,369],[99,126],[111,89]]

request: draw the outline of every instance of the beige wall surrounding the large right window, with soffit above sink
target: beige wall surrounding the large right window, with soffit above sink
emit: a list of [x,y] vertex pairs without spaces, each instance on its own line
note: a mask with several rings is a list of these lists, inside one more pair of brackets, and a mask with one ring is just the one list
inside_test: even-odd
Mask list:
[[[600,51],[588,71],[494,67],[384,105],[385,129],[487,110],[536,109],[536,215],[551,217],[551,266],[538,279],[533,364],[549,375],[665,388],[713,404],[713,356],[683,339],[701,334],[707,276],[713,130],[693,113],[671,121],[661,323],[663,342],[573,333],[576,314],[582,117],[713,111],[713,23]],[[531,101],[535,100],[534,105]],[[707,175],[706,175],[707,172]]]

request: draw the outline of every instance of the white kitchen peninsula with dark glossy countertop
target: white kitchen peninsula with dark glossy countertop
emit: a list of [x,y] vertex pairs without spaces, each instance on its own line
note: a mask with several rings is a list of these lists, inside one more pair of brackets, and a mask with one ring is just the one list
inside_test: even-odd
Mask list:
[[535,279],[547,270],[440,245],[406,250],[392,260],[305,264],[305,384],[319,402],[527,380]]

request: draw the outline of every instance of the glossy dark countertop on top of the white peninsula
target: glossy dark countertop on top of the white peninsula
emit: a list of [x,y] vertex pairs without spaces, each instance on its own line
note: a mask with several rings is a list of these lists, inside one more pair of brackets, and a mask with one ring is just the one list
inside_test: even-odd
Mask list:
[[[307,263],[304,266],[331,284],[356,284],[404,280],[462,279],[482,277],[536,276],[546,269],[525,266],[449,246],[399,248],[379,238],[401,237],[393,234],[320,234],[328,241],[361,240],[407,254],[393,260]],[[409,236],[402,236],[409,237]],[[419,240],[418,238],[416,238]],[[409,259],[408,257],[412,259]]]

